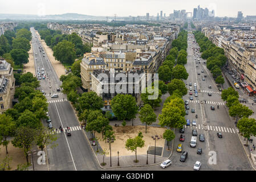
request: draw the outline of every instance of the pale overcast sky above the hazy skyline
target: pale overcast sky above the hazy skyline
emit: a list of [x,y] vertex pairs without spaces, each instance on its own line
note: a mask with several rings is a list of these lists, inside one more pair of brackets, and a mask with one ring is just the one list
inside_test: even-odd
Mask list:
[[256,15],[255,0],[0,0],[0,13],[53,15],[78,13],[96,16],[156,16],[160,11],[169,16],[173,10],[192,12],[200,5],[215,10],[216,16]]

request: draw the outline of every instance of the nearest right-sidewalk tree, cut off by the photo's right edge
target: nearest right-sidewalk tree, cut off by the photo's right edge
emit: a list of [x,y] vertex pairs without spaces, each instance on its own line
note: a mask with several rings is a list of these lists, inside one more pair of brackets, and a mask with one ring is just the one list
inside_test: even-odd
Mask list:
[[246,146],[248,139],[251,136],[256,136],[256,122],[254,118],[242,118],[238,121],[237,127],[243,137],[247,138]]

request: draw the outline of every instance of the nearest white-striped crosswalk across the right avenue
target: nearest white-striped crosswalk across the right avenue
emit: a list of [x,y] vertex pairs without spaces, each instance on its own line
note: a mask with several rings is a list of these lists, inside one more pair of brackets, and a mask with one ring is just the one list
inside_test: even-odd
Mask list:
[[233,129],[231,127],[224,127],[224,126],[212,126],[212,125],[197,125],[197,126],[186,126],[185,128],[189,128],[189,129],[199,129],[199,130],[209,130],[209,131],[218,131],[221,133],[238,133],[239,130],[238,129]]

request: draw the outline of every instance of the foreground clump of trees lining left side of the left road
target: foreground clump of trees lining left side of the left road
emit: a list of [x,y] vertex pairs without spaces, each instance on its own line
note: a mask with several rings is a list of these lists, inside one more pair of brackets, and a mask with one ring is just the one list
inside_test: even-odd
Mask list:
[[[41,150],[46,144],[51,144],[57,137],[51,134],[40,120],[47,118],[47,100],[40,92],[35,90],[39,81],[27,72],[19,78],[21,85],[15,90],[15,98],[18,103],[13,109],[7,109],[0,115],[0,142],[6,148],[10,143],[7,137],[14,137],[11,141],[13,146],[23,148],[27,164],[29,164],[29,152],[31,146],[36,144]],[[54,146],[54,144],[52,144]]]

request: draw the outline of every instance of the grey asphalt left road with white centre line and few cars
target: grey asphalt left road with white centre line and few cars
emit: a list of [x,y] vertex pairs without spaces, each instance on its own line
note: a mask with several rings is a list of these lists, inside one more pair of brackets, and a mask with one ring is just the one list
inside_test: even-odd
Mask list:
[[[38,35],[35,34],[34,28],[31,28],[31,32],[36,76],[38,67],[40,73],[42,73],[42,68],[44,68],[46,73],[46,79],[40,80],[39,89],[44,90],[48,100],[48,113],[52,126],[54,129],[59,129],[59,126],[75,128],[71,131],[71,137],[67,137],[64,132],[59,133],[59,138],[55,142],[58,145],[53,148],[47,147],[49,169],[50,171],[98,170],[99,167],[94,154],[83,131],[79,129],[78,119],[70,102],[67,101],[66,94],[56,91],[62,83],[56,75],[46,53],[39,51],[40,41]],[[50,93],[56,93],[59,97],[51,98]],[[43,121],[43,124],[47,126],[46,121]]]

